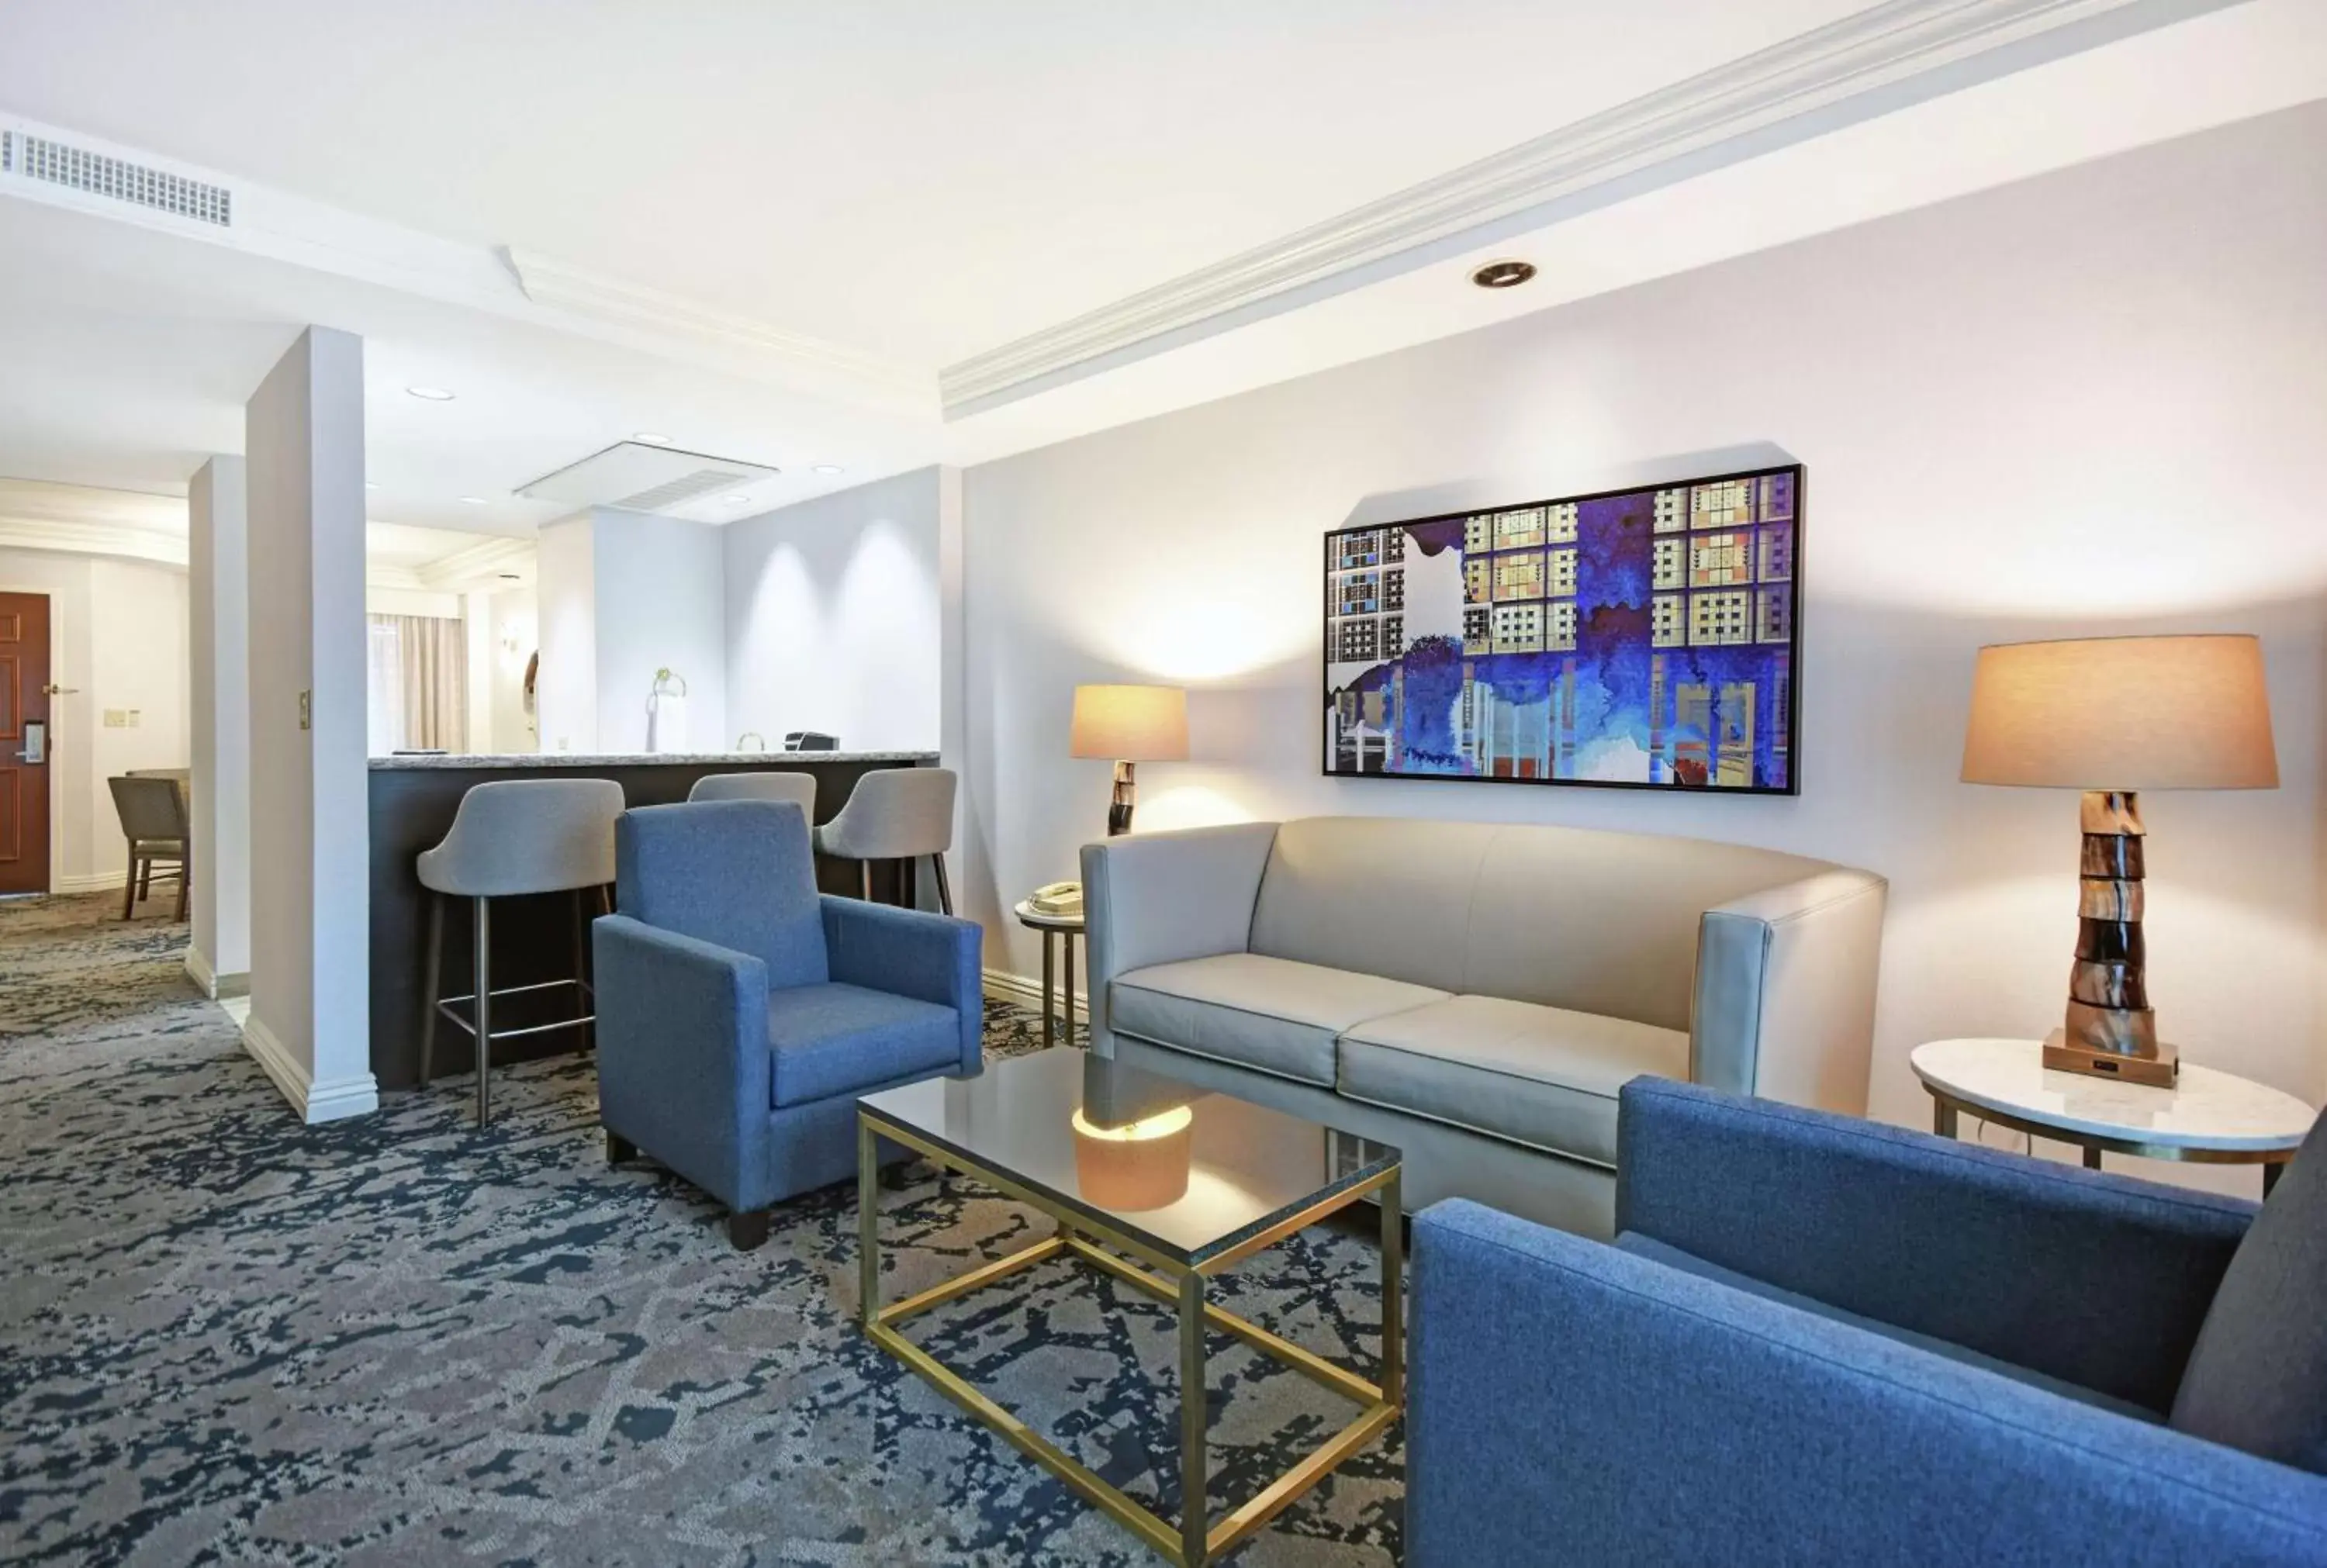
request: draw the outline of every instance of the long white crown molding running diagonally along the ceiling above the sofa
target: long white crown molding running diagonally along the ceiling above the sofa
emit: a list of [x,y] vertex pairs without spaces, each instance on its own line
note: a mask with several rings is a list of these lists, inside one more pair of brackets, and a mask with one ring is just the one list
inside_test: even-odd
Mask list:
[[1885,0],[938,372],[947,419],[2246,0]]

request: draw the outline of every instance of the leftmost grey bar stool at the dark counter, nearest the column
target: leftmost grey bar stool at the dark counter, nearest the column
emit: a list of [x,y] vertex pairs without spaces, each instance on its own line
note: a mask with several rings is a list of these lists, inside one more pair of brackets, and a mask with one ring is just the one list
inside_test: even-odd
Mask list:
[[[421,1086],[428,1086],[435,1070],[435,1021],[442,1012],[456,1028],[477,1038],[477,1126],[484,1126],[493,1114],[493,1040],[517,1040],[551,1028],[589,1028],[598,1017],[582,963],[586,945],[582,893],[596,889],[600,912],[607,907],[605,889],[614,882],[617,817],[621,817],[621,784],[612,779],[500,779],[477,784],[461,796],[461,810],[454,812],[444,842],[419,856],[421,886],[435,893],[428,900],[428,1014],[421,1021]],[[496,991],[493,900],[565,891],[575,896],[572,979],[545,979],[533,986]],[[470,898],[477,907],[477,979],[470,996],[442,993],[447,898]],[[579,1017],[531,1028],[493,1028],[496,998],[558,986],[572,986],[586,1003]],[[461,1003],[470,1003],[468,1019],[456,1012]]]

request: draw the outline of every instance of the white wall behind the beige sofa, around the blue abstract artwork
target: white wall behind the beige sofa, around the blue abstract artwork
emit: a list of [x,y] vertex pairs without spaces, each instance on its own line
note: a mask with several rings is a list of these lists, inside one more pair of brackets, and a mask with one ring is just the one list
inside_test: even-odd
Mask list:
[[[1194,761],[1140,770],[1143,828],[1561,821],[1885,872],[1873,1110],[1927,1124],[1908,1049],[2041,1035],[2076,935],[2076,798],[1957,782],[1973,649],[2257,630],[2285,786],[2143,803],[2150,984],[2190,1061],[2315,1103],[2320,168],[2327,105],[973,468],[963,907],[989,965],[1038,965],[1003,910],[1103,831],[1070,689],[1180,682]],[[1319,777],[1324,530],[1780,454],[1808,465],[1799,798]]]

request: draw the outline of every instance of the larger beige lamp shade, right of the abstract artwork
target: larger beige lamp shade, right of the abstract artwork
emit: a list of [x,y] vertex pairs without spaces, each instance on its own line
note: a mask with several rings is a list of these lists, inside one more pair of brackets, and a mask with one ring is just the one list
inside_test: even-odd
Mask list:
[[1964,782],[2278,789],[2262,642],[2199,635],[1983,647]]

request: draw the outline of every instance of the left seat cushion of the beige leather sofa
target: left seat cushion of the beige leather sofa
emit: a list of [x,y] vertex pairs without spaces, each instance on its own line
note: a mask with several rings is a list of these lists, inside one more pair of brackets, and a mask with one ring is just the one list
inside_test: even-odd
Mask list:
[[1108,1028],[1331,1089],[1340,1031],[1445,996],[1380,975],[1219,954],[1117,975]]

